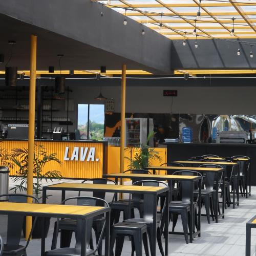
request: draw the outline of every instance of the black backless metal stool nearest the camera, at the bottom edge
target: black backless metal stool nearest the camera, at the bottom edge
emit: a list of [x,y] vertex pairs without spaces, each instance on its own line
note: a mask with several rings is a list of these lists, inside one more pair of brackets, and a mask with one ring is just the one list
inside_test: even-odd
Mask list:
[[110,251],[114,249],[116,241],[115,256],[120,256],[122,252],[124,237],[132,237],[132,256],[142,256],[142,242],[144,244],[145,254],[149,256],[147,244],[147,229],[144,223],[119,222],[113,225],[111,229]]

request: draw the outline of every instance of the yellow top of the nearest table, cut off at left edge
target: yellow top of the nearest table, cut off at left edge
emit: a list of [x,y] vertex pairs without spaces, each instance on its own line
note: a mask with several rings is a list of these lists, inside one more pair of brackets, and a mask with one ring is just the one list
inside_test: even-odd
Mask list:
[[1,211],[18,211],[30,212],[34,214],[61,214],[61,215],[87,215],[94,211],[103,209],[98,206],[78,206],[78,205],[61,205],[61,204],[32,204],[32,203],[12,203],[0,202]]

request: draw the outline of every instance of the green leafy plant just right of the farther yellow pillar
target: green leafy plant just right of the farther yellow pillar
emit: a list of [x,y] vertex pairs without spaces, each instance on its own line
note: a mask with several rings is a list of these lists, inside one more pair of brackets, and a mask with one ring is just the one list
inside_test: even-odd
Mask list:
[[[147,136],[146,143],[142,143],[140,147],[135,148],[136,153],[133,158],[125,157],[125,159],[129,160],[131,169],[143,169],[145,167],[148,167],[148,165],[151,165],[153,160],[158,160],[159,162],[161,162],[162,158],[158,155],[159,153],[155,150],[155,148],[147,145],[153,136],[154,132],[151,132]],[[125,151],[131,150],[131,148],[125,149]]]

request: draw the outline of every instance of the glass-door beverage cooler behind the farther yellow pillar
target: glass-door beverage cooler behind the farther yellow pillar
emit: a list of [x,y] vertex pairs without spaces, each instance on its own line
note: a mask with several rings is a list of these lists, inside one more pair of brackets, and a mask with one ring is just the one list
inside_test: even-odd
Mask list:
[[[153,130],[154,123],[151,118],[125,118],[125,146],[140,147],[146,143],[148,134]],[[154,145],[153,138],[148,144]]]

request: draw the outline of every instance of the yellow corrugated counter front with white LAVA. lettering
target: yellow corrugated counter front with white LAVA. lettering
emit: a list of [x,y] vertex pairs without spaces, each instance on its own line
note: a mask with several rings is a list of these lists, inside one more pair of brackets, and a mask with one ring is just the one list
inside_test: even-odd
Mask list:
[[[56,153],[62,162],[47,163],[44,172],[59,170],[63,178],[84,179],[101,178],[108,169],[108,142],[90,140],[35,140],[48,153]],[[13,148],[28,148],[28,140],[6,139],[0,144],[11,153]],[[15,176],[17,168],[10,169],[10,175]]]

